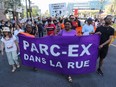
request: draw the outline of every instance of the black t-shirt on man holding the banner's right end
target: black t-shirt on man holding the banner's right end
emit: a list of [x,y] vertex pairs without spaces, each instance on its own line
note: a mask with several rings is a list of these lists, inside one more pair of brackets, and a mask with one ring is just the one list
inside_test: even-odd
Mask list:
[[[110,26],[100,26],[96,29],[96,32],[101,32],[100,45],[106,42],[111,35],[114,35],[114,29]],[[105,46],[108,46],[108,44]]]

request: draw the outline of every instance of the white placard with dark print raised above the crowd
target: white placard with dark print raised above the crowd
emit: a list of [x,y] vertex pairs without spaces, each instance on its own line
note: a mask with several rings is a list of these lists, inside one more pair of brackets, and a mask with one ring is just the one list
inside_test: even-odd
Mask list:
[[62,17],[66,15],[66,3],[49,4],[51,17]]

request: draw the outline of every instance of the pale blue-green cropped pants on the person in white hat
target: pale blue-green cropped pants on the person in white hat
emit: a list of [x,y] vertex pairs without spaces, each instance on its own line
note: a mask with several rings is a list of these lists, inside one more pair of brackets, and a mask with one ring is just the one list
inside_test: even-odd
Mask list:
[[18,64],[18,55],[16,51],[6,52],[9,65]]

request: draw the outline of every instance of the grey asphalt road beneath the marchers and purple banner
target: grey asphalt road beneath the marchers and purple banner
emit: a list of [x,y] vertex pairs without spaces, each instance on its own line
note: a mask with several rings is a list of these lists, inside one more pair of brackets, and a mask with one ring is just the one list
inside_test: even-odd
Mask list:
[[116,40],[110,46],[108,56],[104,61],[104,76],[96,72],[86,75],[73,76],[73,83],[69,83],[65,76],[21,66],[15,73],[11,73],[6,56],[0,54],[0,87],[116,87]]

